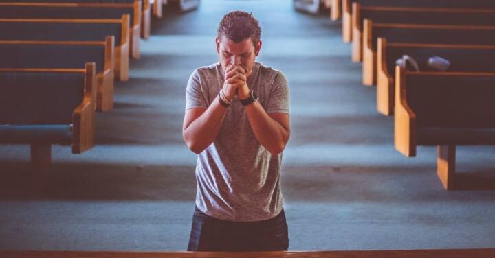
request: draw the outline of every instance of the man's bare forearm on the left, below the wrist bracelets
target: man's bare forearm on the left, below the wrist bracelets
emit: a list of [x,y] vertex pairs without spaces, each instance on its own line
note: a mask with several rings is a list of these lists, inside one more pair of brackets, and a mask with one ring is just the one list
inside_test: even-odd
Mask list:
[[218,96],[204,113],[184,130],[184,139],[188,147],[197,154],[206,149],[217,137],[225,117],[226,109],[221,106],[217,98]]

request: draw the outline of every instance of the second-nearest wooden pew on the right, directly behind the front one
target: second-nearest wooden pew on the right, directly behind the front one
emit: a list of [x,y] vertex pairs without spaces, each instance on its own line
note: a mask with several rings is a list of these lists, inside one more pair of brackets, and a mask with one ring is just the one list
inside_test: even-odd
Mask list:
[[405,54],[415,58],[419,71],[431,71],[428,58],[441,56],[450,60],[448,71],[495,72],[495,45],[387,43],[378,38],[377,110],[384,115],[393,114],[395,60]]

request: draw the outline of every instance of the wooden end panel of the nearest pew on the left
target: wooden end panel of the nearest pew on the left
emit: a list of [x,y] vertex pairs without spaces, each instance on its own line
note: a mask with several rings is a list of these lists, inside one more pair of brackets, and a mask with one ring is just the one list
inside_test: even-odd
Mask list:
[[72,153],[83,153],[94,146],[95,136],[96,64],[89,62],[85,70],[85,96],[72,113]]

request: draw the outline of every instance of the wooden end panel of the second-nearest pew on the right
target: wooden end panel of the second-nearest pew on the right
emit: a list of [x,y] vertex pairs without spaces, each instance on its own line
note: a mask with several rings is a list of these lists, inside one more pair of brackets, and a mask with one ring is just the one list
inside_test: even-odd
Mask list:
[[[366,34],[366,27],[364,29]],[[388,73],[386,63],[386,39],[377,39],[377,110],[383,115],[392,115],[394,108],[394,78]]]

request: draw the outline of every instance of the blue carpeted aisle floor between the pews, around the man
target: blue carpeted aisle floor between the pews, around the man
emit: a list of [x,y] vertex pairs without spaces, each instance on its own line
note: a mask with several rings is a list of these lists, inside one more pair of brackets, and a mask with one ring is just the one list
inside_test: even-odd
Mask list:
[[393,117],[375,110],[340,23],[294,12],[289,0],[202,0],[153,21],[129,82],[115,85],[115,110],[97,115],[96,147],[54,146],[47,193],[25,182],[29,147],[0,145],[0,249],[186,250],[196,156],[181,138],[185,86],[217,61],[214,36],[230,10],[259,19],[259,61],[289,80],[290,250],[495,247],[495,148],[459,148],[469,184],[444,191],[434,148],[414,159],[394,150]]

